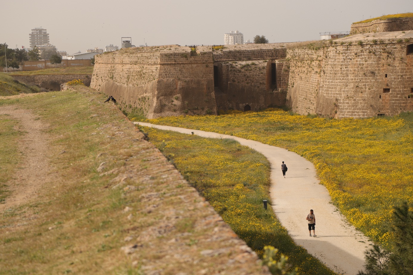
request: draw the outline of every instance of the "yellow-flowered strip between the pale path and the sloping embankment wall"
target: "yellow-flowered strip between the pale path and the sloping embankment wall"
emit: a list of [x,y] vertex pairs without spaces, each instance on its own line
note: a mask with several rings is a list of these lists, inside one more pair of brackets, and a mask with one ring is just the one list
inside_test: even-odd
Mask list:
[[262,154],[235,140],[141,129],[257,254],[271,245],[288,256],[291,270],[335,274],[294,243],[271,205],[263,209],[263,199],[270,201],[270,165]]

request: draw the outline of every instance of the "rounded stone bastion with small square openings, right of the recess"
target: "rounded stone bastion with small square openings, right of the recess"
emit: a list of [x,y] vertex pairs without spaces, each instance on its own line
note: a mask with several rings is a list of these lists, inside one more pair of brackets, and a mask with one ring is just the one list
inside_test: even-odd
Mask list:
[[413,111],[411,44],[413,31],[398,31],[340,38],[319,50],[290,50],[287,105],[299,114],[336,118]]

